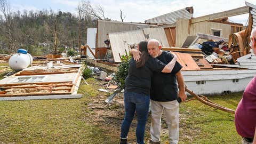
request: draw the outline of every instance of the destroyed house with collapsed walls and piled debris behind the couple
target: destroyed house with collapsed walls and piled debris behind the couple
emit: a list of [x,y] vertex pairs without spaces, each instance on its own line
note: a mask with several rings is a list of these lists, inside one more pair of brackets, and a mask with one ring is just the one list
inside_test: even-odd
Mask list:
[[[121,62],[121,55],[129,53],[140,41],[155,38],[165,48],[163,50],[178,55],[185,83],[194,92],[243,91],[256,72],[255,55],[249,46],[251,29],[256,26],[256,6],[247,2],[245,5],[198,18],[193,18],[193,8],[187,7],[146,20],[143,24],[98,21],[95,55],[104,55],[109,49],[113,61],[95,57],[96,62],[103,60],[104,65],[115,67]],[[241,23],[228,21],[229,17],[245,13],[249,13],[245,29]],[[109,39],[108,47],[104,44],[106,39]],[[204,53],[207,51],[201,50],[201,44],[208,45],[210,52]]]

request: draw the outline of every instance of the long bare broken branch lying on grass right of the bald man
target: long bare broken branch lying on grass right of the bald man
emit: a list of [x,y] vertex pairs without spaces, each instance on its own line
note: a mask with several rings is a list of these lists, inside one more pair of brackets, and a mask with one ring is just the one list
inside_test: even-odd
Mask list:
[[198,96],[197,94],[195,94],[193,91],[190,91],[187,87],[185,87],[185,90],[186,90],[186,92],[188,92],[189,94],[193,95],[195,99],[201,101],[202,103],[204,103],[204,104],[207,105],[207,106],[211,106],[211,107],[213,107],[213,108],[217,108],[217,109],[220,109],[220,110],[222,110],[222,111],[225,111],[225,112],[231,113],[231,114],[235,114],[235,112],[236,112],[236,111],[233,110],[233,109],[229,109],[229,108],[223,107],[223,106],[221,106],[221,105],[219,105],[219,104],[217,104],[217,103],[214,103],[214,102],[210,101],[209,99],[207,99],[206,97],[205,97],[205,98],[204,98],[204,97],[203,97],[203,98],[199,97],[199,96]]

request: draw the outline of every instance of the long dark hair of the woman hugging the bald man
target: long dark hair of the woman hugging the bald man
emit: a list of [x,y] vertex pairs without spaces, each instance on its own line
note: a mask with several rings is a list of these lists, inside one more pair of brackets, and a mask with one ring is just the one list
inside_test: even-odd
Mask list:
[[136,68],[143,67],[148,60],[148,42],[142,41],[139,43],[139,51],[141,52],[139,61],[136,62]]

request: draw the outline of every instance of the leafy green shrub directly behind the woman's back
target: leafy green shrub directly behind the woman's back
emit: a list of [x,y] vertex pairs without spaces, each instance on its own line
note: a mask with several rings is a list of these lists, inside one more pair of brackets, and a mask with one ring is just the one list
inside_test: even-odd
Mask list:
[[118,67],[118,71],[114,77],[115,81],[118,83],[121,89],[124,89],[125,78],[128,75],[130,60],[131,60],[130,56],[122,55],[122,58],[121,58],[122,62],[120,63]]

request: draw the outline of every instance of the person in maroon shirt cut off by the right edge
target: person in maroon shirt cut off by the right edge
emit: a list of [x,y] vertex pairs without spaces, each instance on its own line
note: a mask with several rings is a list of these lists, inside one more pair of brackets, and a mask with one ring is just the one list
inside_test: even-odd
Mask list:
[[[251,47],[256,54],[256,28],[252,29]],[[236,131],[241,135],[243,144],[256,144],[256,77],[246,86],[243,97],[235,113]]]

